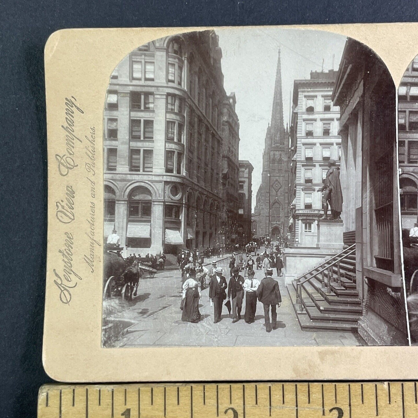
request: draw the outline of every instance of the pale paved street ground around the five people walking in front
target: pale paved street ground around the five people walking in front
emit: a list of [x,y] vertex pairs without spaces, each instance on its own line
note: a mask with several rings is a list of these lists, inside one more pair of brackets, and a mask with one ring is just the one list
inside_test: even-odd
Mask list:
[[[219,261],[229,281],[228,259]],[[209,267],[209,266],[208,266]],[[263,270],[256,270],[255,278],[263,278]],[[213,323],[213,308],[209,301],[209,288],[201,292],[199,310],[204,317],[198,324],[181,321],[180,271],[158,272],[154,278],[140,280],[138,296],[130,303],[121,304],[119,313],[112,319],[132,324],[114,343],[117,347],[144,346],[353,346],[359,345],[350,332],[302,331],[291,304],[283,278],[277,278],[282,295],[278,308],[278,329],[265,332],[263,306],[257,303],[255,322],[246,324],[242,319],[232,324],[227,308],[222,311],[222,320]],[[112,302],[109,302],[112,303]]]

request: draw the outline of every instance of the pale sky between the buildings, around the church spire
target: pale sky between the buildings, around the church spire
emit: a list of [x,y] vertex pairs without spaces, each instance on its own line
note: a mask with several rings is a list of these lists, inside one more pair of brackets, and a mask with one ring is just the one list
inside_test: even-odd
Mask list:
[[282,69],[283,120],[289,123],[293,80],[311,71],[338,69],[346,37],[323,31],[277,28],[217,29],[227,94],[235,92],[240,119],[240,160],[249,160],[252,207],[261,182],[265,133],[271,120],[278,49]]

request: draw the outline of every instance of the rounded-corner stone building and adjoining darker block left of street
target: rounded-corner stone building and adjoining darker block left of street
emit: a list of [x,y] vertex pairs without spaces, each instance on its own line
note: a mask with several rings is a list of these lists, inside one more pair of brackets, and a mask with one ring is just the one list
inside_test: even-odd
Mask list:
[[[104,109],[104,239],[129,253],[228,244],[239,122],[214,31],[149,42],[113,71]],[[225,196],[229,204],[224,206]]]

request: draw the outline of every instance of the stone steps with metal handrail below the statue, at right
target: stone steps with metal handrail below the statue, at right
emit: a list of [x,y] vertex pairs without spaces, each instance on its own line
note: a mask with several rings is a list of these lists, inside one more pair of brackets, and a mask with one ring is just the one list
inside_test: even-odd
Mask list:
[[[298,292],[297,282],[300,292]],[[356,290],[355,245],[287,285],[303,330],[357,331],[362,306]]]

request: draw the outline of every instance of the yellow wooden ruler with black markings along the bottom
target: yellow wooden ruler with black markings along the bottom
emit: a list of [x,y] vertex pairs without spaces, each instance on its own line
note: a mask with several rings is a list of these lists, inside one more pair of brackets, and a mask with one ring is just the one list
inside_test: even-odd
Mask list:
[[416,382],[44,385],[38,418],[417,418]]

